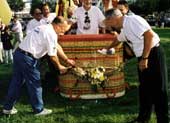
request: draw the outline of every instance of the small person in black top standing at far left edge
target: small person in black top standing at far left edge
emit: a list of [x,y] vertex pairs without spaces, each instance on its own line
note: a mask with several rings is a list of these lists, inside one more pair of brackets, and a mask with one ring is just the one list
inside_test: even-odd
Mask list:
[[13,56],[12,56],[12,35],[10,34],[9,27],[5,26],[5,29],[1,32],[1,41],[3,44],[4,49],[4,62],[9,64],[10,62],[13,63]]

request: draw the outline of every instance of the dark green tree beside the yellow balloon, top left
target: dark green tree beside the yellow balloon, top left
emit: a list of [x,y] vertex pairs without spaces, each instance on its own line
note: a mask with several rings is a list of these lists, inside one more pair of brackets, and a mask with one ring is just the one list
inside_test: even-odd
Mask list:
[[15,11],[21,11],[23,10],[25,3],[23,2],[23,0],[7,0],[10,8]]

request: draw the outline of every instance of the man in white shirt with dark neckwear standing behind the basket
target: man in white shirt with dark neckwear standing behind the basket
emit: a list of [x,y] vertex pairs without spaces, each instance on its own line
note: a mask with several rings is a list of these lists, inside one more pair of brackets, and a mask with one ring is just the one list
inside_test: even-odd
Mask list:
[[72,23],[77,23],[77,34],[99,34],[99,27],[104,33],[103,13],[96,6],[92,6],[92,0],[82,0],[82,7],[75,10]]

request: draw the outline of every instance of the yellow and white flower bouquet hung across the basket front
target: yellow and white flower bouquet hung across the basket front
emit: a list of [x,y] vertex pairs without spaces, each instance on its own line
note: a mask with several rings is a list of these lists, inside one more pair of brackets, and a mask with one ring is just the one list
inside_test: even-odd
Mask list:
[[[92,89],[97,92],[98,87],[105,88],[106,82],[109,76],[112,76],[115,72],[122,71],[123,65],[118,67],[107,67],[98,66],[94,68],[87,68],[84,70],[80,67],[71,68],[70,72],[78,79],[90,82]],[[78,83],[76,83],[77,85]]]

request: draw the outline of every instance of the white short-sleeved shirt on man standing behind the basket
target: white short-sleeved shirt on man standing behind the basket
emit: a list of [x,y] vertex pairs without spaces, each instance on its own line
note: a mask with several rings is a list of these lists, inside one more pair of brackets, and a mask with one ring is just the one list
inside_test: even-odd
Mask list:
[[[86,26],[85,18],[87,16],[85,12],[88,12],[88,17],[90,20],[89,29],[84,29],[84,27]],[[102,23],[104,19],[105,16],[101,12],[101,10],[96,6],[91,6],[89,11],[86,11],[84,7],[77,8],[71,18],[71,21],[73,23],[77,22],[77,34],[98,34],[99,26],[104,27],[104,24]]]

